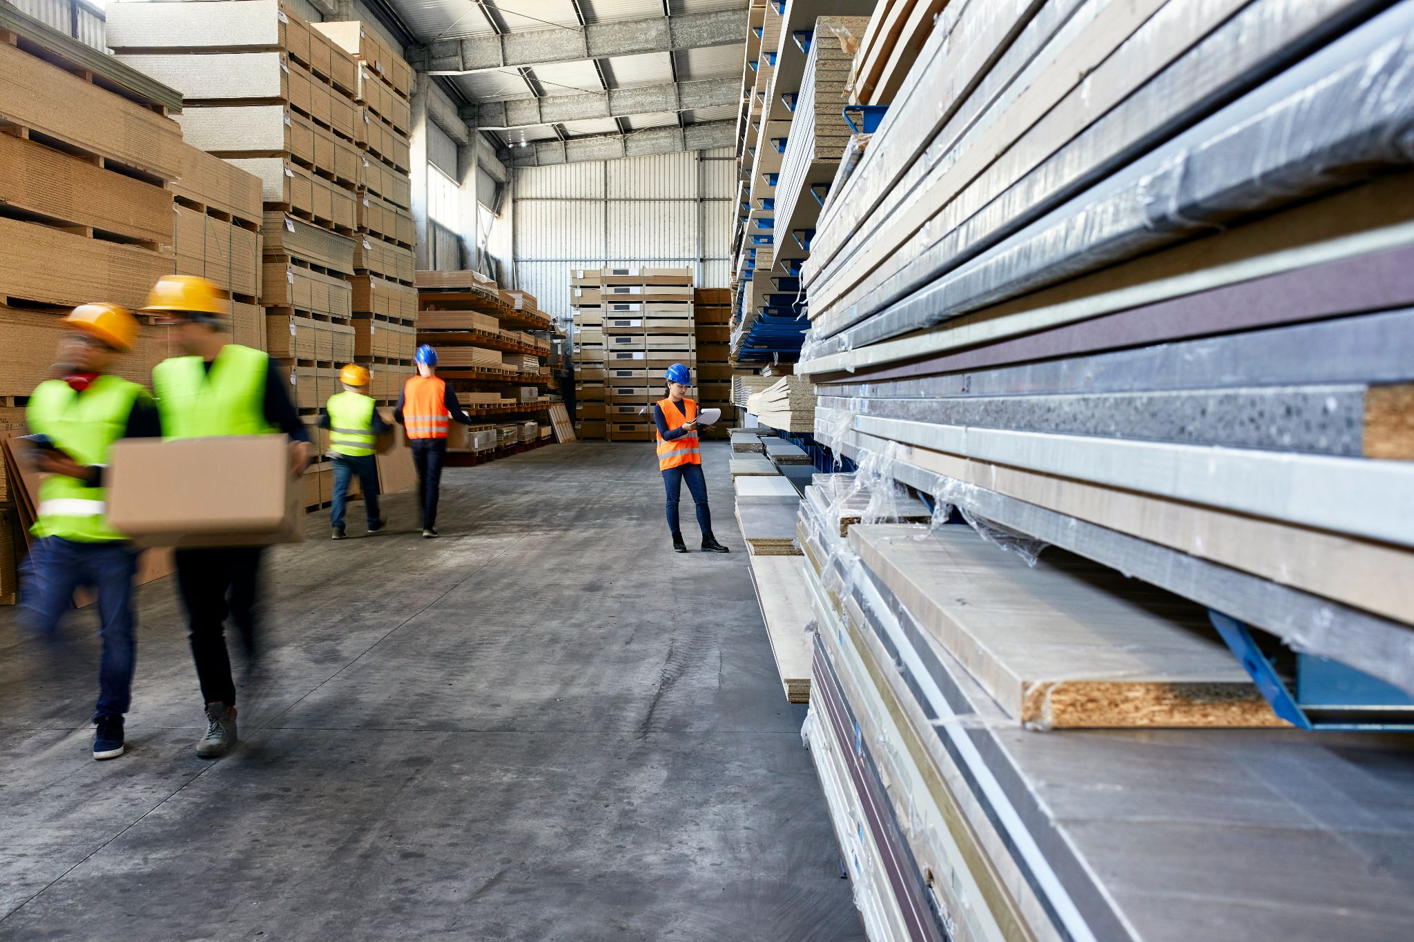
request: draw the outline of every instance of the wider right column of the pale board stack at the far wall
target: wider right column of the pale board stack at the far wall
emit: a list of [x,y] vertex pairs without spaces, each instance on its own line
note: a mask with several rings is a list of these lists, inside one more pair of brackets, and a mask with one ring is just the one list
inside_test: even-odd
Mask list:
[[650,442],[653,403],[663,398],[663,371],[693,371],[697,398],[697,336],[691,268],[602,268],[605,436]]

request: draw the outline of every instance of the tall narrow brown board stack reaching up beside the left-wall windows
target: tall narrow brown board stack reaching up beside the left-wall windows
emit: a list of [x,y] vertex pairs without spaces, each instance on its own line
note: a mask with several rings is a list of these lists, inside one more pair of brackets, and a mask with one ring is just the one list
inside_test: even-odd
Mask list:
[[396,390],[413,373],[417,350],[417,288],[411,213],[413,71],[376,32],[356,20],[315,23],[314,30],[358,62],[354,130],[362,148],[355,193],[358,236],[354,268],[354,356]]

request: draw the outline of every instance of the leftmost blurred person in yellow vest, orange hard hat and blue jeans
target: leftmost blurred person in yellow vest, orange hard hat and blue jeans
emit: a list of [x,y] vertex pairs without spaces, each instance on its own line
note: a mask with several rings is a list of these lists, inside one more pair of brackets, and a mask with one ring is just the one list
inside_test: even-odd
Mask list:
[[49,636],[78,586],[98,592],[103,654],[93,758],[116,758],[124,749],[123,715],[133,688],[137,549],[107,525],[103,467],[115,441],[157,434],[157,412],[147,390],[109,373],[137,340],[132,314],[85,304],[64,323],[69,328],[59,347],[64,376],[40,383],[25,408],[30,431],[44,436],[33,463],[45,477],[20,606],[24,621]]

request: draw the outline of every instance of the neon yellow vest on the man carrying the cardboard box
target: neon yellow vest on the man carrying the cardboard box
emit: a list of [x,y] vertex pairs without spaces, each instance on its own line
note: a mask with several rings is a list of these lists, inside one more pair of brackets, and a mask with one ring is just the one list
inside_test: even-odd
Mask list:
[[269,435],[264,418],[270,357],[239,343],[221,347],[211,370],[199,356],[177,356],[153,369],[163,436]]

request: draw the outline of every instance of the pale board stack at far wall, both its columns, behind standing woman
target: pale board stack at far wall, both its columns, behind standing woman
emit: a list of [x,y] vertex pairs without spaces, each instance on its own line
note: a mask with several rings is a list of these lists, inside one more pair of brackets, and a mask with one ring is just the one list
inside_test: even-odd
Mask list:
[[[697,380],[693,273],[636,266],[570,271],[575,435],[650,442],[663,371]],[[696,387],[687,395],[697,398]]]

